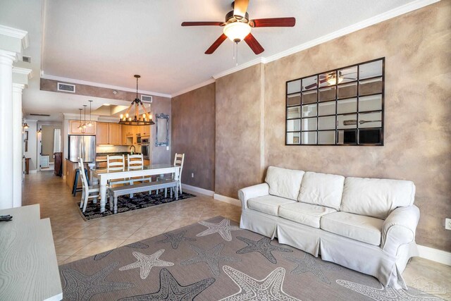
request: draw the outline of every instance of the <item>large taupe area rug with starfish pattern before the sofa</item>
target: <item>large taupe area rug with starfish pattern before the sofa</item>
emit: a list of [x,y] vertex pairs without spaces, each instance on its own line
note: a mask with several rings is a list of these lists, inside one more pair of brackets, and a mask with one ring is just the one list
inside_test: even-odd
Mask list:
[[383,288],[221,216],[59,269],[64,300],[440,300]]

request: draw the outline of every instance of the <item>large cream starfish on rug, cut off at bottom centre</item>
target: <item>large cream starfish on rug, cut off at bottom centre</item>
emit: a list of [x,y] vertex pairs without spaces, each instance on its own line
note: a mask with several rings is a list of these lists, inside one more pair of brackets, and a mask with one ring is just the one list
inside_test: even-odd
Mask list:
[[240,287],[240,291],[220,301],[244,301],[244,300],[285,300],[300,301],[285,293],[282,289],[285,278],[285,269],[278,267],[266,278],[257,280],[251,276],[233,269],[231,266],[223,266],[224,272]]

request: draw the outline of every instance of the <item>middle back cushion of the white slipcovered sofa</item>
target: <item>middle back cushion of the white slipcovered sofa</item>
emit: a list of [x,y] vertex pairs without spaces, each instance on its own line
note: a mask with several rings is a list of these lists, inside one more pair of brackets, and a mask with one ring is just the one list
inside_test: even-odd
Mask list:
[[344,176],[307,171],[302,177],[297,200],[340,210],[344,183]]

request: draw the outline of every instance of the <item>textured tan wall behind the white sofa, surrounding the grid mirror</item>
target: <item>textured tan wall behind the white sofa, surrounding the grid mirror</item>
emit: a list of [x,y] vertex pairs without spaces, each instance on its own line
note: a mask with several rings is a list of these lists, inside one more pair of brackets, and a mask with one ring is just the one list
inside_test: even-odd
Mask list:
[[[451,1],[440,1],[266,64],[266,166],[412,180],[416,242],[451,251],[450,16]],[[383,56],[385,146],[284,145],[285,81]]]

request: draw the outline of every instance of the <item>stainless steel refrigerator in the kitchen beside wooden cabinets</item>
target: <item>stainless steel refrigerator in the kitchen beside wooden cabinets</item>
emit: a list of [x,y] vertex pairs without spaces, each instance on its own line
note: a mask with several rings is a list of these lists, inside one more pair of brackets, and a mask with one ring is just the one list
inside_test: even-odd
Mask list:
[[69,135],[68,159],[78,162],[82,158],[83,162],[96,161],[96,136],[94,135]]

